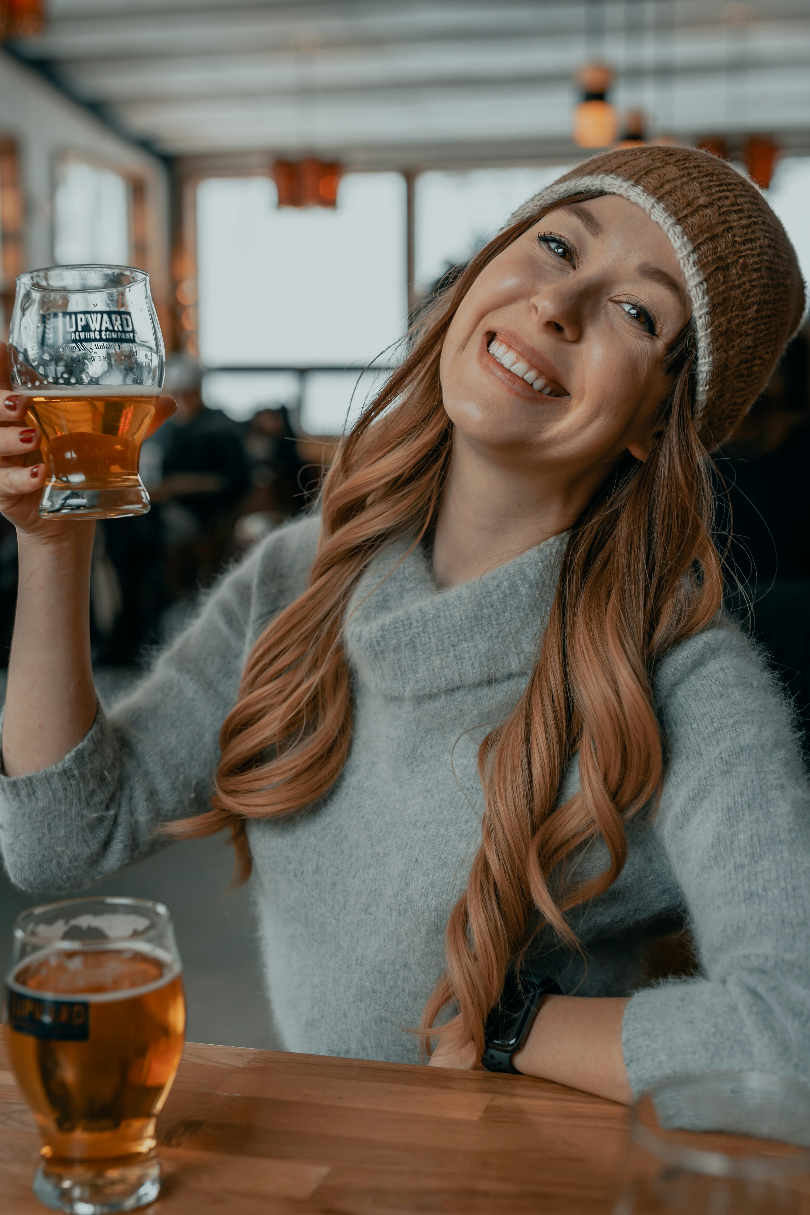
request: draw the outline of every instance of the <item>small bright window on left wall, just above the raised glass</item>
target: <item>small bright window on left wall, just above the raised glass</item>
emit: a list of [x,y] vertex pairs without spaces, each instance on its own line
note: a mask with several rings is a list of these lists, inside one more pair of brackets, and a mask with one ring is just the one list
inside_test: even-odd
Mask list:
[[130,261],[129,183],[112,169],[66,160],[53,199],[53,258],[60,265]]

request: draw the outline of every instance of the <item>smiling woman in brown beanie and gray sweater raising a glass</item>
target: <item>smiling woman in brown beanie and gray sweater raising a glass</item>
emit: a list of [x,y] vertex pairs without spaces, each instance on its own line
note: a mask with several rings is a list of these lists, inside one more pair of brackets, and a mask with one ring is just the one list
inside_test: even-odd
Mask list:
[[[75,887],[165,824],[227,827],[291,1050],[415,1062],[420,1025],[432,1062],[477,1066],[514,968],[563,993],[532,1005],[517,1070],[618,1101],[680,1072],[806,1075],[808,793],[720,615],[707,471],[803,306],[729,165],[573,170],[424,320],[319,518],[254,550],[109,714],[91,529],[36,516],[7,399],[13,881]],[[684,923],[698,973],[645,988],[650,938]]]

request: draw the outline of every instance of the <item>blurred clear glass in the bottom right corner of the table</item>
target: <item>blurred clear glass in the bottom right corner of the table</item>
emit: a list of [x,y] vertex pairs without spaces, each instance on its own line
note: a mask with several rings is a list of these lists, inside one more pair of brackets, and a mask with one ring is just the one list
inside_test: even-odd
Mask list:
[[642,1094],[613,1215],[810,1215],[810,1090],[719,1072]]

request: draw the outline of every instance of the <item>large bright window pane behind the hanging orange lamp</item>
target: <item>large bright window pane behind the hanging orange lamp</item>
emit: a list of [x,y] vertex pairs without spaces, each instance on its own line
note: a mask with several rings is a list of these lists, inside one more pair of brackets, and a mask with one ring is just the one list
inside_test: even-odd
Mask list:
[[349,174],[335,210],[278,209],[266,177],[208,179],[197,199],[205,366],[362,367],[402,337],[401,174]]

